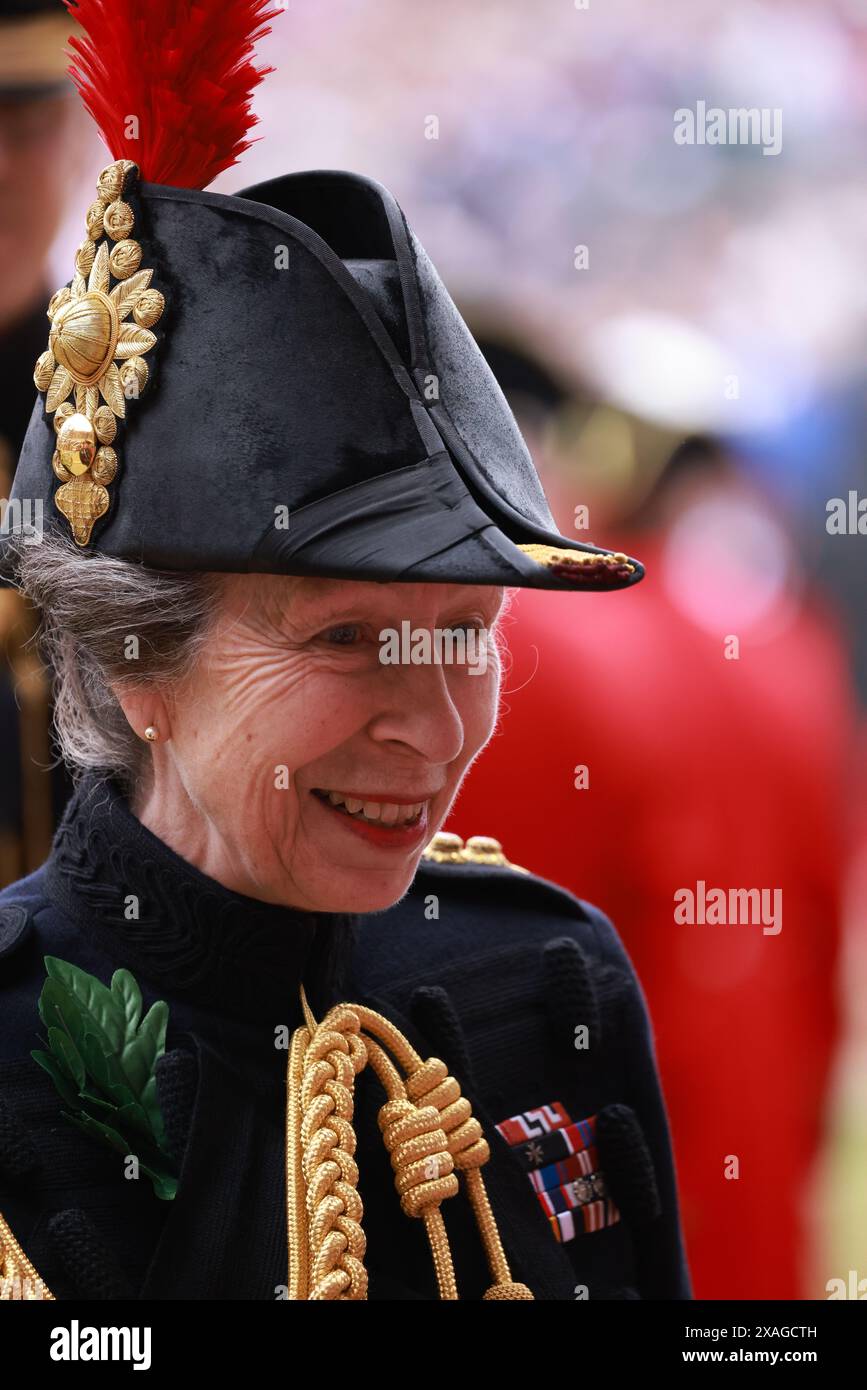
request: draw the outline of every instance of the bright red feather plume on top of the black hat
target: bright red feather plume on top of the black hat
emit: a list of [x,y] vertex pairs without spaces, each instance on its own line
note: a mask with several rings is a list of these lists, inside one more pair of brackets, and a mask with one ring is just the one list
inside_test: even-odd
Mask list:
[[[236,164],[257,122],[250,99],[272,68],[253,46],[281,14],[271,0],[64,0],[85,31],[69,76],[113,158],[150,183],[206,188]],[[136,118],[133,126],[129,121]],[[138,139],[129,132],[136,131]]]

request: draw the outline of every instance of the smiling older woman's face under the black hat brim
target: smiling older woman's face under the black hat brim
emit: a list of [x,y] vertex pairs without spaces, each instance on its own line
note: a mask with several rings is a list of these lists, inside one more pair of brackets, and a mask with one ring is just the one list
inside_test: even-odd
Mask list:
[[[143,712],[170,734],[153,745],[146,824],[250,897],[321,912],[389,906],[493,730],[489,634],[504,591],[224,582],[195,671],[161,716]],[[403,632],[403,646],[386,646],[386,630]],[[457,638],[459,656],[465,641],[467,659],[450,662],[440,646],[431,660],[438,631]],[[406,660],[413,651],[421,662]]]

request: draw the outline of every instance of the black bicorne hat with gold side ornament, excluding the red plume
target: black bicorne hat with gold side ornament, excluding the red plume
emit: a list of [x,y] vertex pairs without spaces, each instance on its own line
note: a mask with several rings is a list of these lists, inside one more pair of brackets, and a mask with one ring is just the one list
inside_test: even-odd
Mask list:
[[[354,174],[238,196],[108,165],[49,307],[13,514],[170,570],[614,589],[557,532],[404,214]],[[17,506],[15,506],[17,503]]]

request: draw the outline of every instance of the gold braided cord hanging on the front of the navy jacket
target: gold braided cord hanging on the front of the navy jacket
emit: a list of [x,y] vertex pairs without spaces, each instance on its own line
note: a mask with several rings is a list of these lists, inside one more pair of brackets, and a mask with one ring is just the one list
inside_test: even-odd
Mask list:
[[532,1300],[511,1279],[485,1190],[488,1141],[445,1062],[425,1062],[389,1019],[361,1004],[338,1004],[317,1023],[303,986],[300,998],[306,1026],[292,1037],[286,1068],[289,1298],[367,1298],[352,1120],[356,1076],[370,1063],[388,1097],[379,1129],[400,1207],[424,1220],[439,1297],[459,1298],[440,1205],[463,1175],[493,1279],[485,1298]]

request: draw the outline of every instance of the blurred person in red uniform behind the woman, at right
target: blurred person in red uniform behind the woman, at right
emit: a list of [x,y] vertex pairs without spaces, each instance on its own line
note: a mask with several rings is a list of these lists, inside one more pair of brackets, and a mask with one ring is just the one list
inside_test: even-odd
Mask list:
[[[564,391],[524,353],[482,346],[561,531],[589,502],[602,541],[606,506],[582,495],[556,424]],[[675,449],[631,524],[647,560],[634,603],[578,613],[515,595],[509,719],[447,828],[468,833],[496,802],[518,862],[622,924],[657,1020],[696,1297],[825,1297],[806,1283],[839,1034],[843,641],[773,502],[714,442]],[[528,766],[534,795],[515,796]],[[675,892],[699,881],[781,890],[781,930],[678,924]]]

